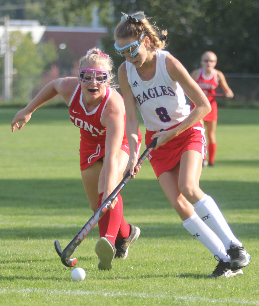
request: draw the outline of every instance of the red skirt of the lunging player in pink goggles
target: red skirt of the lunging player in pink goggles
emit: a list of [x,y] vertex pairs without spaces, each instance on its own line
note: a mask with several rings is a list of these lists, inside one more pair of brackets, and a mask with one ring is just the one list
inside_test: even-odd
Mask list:
[[[138,130],[138,142],[137,142],[137,153],[140,154],[142,135],[140,130]],[[130,148],[127,138],[122,141],[121,150],[125,151],[130,156]],[[102,160],[105,155],[105,147],[101,147],[100,144],[95,144],[89,147],[88,150],[79,150],[80,152],[80,170],[83,171],[87,169],[90,165],[96,162],[98,159]]]

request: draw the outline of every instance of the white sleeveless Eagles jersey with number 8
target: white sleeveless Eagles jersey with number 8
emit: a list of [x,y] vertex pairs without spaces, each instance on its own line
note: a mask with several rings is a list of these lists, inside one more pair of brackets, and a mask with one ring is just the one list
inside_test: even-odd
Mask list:
[[167,51],[156,49],[156,53],[156,74],[149,81],[142,81],[134,65],[126,62],[128,82],[149,131],[169,129],[190,114],[183,89],[166,70]]

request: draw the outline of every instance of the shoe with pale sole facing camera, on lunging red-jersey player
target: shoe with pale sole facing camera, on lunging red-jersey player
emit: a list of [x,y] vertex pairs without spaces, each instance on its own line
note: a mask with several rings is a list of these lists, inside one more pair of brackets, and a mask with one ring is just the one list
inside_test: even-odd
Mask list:
[[99,257],[98,268],[100,270],[112,269],[116,248],[109,239],[101,237],[95,245],[95,253]]

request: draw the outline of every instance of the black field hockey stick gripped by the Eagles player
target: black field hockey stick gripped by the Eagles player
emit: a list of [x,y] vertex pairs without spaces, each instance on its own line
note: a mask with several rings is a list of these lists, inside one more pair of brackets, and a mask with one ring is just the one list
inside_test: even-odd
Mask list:
[[[161,129],[160,132],[161,131],[164,131],[164,130]],[[154,138],[151,144],[147,147],[147,149],[143,152],[143,154],[138,159],[136,166],[141,165],[142,162],[144,162],[144,160],[147,158],[147,156],[153,150],[156,144],[157,144],[157,138]],[[70,267],[70,268],[75,267],[75,265],[77,264],[77,259],[70,258],[70,256],[75,251],[75,249],[79,246],[79,244],[84,240],[84,238],[91,232],[94,226],[99,222],[99,220],[108,210],[110,204],[118,196],[119,192],[128,183],[131,177],[132,175],[128,171],[125,177],[123,177],[122,181],[119,183],[119,185],[114,189],[114,191],[110,194],[110,196],[108,196],[107,199],[101,204],[101,206],[97,209],[97,211],[95,211],[95,213],[88,220],[88,222],[83,226],[82,230],[80,230],[80,232],[72,239],[72,241],[66,246],[66,248],[64,248],[64,251],[62,251],[59,241],[55,240],[54,245],[55,245],[56,252],[61,257],[61,261],[64,264],[64,266]]]

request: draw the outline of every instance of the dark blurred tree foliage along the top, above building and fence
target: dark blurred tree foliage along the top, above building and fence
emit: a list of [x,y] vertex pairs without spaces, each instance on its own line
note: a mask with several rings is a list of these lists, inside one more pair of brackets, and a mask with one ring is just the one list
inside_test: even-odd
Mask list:
[[103,48],[114,58],[115,69],[123,61],[113,47],[121,12],[145,11],[158,28],[168,30],[167,49],[189,72],[199,67],[207,50],[217,54],[217,68],[225,73],[259,71],[259,0],[0,0],[1,7],[22,4],[28,9],[3,10],[1,16],[33,17],[44,25],[89,26],[97,6],[101,25],[109,29]]

